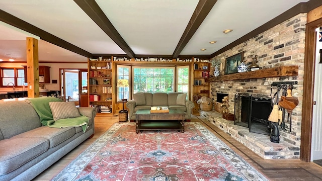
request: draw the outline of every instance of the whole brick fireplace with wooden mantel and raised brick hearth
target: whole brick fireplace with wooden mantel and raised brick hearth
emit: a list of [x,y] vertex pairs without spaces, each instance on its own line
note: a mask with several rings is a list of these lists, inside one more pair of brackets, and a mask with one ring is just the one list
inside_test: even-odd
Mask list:
[[[236,94],[248,94],[253,97],[271,96],[276,92],[276,87],[271,87],[275,81],[297,81],[298,84],[292,91],[292,95],[299,100],[299,104],[292,113],[292,130],[290,124],[285,122],[286,131],[280,130],[280,143],[270,142],[268,135],[251,133],[243,126],[234,125],[231,121],[222,119],[217,112],[201,112],[200,115],[207,118],[212,124],[231,135],[237,141],[258,153],[266,159],[294,159],[299,158],[300,135],[301,135],[301,114],[303,100],[303,65],[305,48],[305,24],[306,14],[299,14],[289,20],[229,49],[219,55],[216,59],[225,62],[225,58],[244,51],[244,62],[249,63],[252,57],[258,56],[257,64],[264,70],[279,68],[283,66],[298,66],[298,74],[289,73],[289,69],[276,69],[267,76],[258,76],[260,71],[234,73],[220,77],[210,77],[210,97],[214,102],[217,100],[217,93],[227,94],[229,98],[228,110],[234,114],[234,96]],[[257,72],[257,73],[256,73]],[[241,74],[247,74],[240,78]],[[256,75],[256,76],[254,76]],[[233,78],[230,78],[233,77]],[[219,114],[219,115],[218,115]]]

